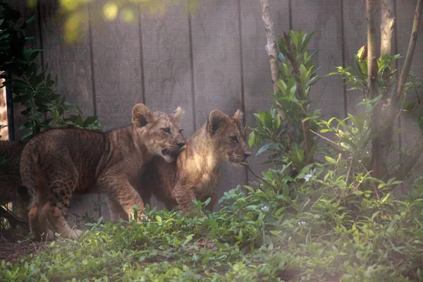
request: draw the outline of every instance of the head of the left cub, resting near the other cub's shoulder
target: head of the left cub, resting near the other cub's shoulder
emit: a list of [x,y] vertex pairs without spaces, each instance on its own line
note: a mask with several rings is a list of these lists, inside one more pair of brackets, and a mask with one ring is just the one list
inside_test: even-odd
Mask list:
[[185,145],[178,119],[182,109],[168,115],[161,111],[152,112],[144,104],[133,107],[133,125],[140,142],[144,143],[150,154],[159,155],[167,162],[174,161]]

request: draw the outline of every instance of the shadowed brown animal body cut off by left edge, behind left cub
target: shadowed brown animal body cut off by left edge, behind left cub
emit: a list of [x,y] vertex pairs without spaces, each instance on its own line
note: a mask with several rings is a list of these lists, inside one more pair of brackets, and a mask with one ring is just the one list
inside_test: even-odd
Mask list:
[[16,215],[27,218],[28,207],[32,197],[27,190],[20,192],[19,162],[23,142],[0,141],[0,156],[6,158],[6,163],[0,165],[0,204],[16,203]]

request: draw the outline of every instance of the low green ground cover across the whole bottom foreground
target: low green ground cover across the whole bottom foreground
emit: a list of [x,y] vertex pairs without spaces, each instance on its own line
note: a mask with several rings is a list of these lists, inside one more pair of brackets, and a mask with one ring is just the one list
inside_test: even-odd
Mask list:
[[[343,230],[324,216],[301,214],[285,219],[278,231],[266,231],[258,221],[227,210],[200,218],[166,210],[147,214],[150,221],[142,224],[92,223],[79,240],[56,240],[35,255],[3,261],[0,281],[423,278],[423,228],[417,225],[410,232],[401,220],[371,220],[365,228],[353,225]],[[259,218],[269,220],[266,215]]]

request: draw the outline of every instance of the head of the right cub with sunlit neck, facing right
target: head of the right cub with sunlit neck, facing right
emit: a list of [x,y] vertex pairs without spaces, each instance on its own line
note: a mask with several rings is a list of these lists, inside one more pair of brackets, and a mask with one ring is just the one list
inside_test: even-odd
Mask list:
[[232,117],[222,111],[214,110],[209,114],[206,129],[216,142],[218,154],[232,164],[240,164],[250,157],[251,151],[244,141],[244,130],[240,121],[243,113],[237,110]]

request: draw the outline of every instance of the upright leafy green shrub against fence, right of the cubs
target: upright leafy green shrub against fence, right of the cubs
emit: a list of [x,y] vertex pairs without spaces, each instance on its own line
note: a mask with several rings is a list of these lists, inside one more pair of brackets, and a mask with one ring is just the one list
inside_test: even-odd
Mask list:
[[260,146],[257,154],[272,152],[271,163],[288,164],[301,169],[312,162],[317,147],[317,137],[309,129],[317,130],[320,111],[310,112],[312,100],[309,92],[319,78],[314,72],[312,59],[306,47],[312,34],[290,31],[279,38],[281,48],[279,90],[274,93],[276,103],[270,111],[253,114],[259,123],[250,128],[250,147]]

